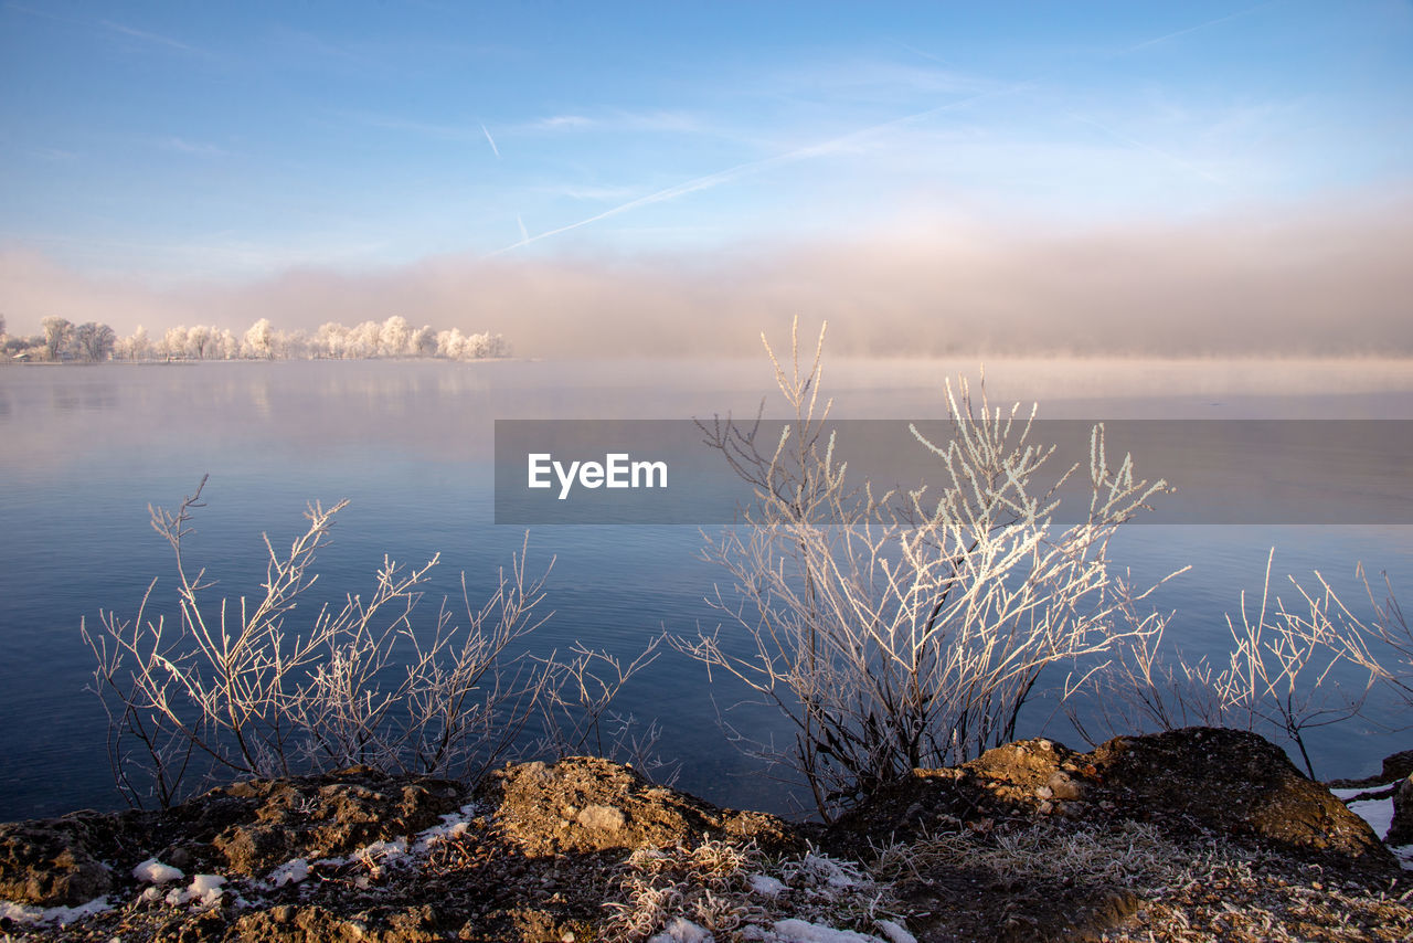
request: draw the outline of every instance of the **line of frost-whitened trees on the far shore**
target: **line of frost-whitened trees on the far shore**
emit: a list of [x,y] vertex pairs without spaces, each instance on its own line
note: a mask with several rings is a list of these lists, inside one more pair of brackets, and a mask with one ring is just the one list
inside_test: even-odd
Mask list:
[[318,331],[278,331],[260,318],[244,334],[198,324],[178,325],[160,336],[138,325],[119,336],[106,324],[73,324],[57,315],[40,321],[40,334],[10,336],[0,315],[0,342],[6,359],[20,361],[360,361],[370,358],[444,358],[479,361],[509,356],[510,345],[499,334],[462,334],[461,328],[434,331],[414,328],[401,315],[383,322],[363,321],[346,327],[335,321]]

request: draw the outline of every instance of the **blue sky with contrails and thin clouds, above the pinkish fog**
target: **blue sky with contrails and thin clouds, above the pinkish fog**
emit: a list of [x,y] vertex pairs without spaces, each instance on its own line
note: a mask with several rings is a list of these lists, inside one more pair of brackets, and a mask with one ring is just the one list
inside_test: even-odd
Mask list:
[[1410,79],[1393,0],[6,1],[0,249],[161,288],[1186,223],[1406,192]]

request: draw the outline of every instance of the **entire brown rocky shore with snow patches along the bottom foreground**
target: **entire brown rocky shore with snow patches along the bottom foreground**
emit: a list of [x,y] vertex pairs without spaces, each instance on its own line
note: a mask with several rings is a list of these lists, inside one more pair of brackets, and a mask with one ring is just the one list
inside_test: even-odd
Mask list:
[[[1396,758],[1392,758],[1396,761]],[[1413,761],[1413,758],[1409,758]],[[476,787],[366,768],[0,826],[34,940],[1407,940],[1413,871],[1253,734],[914,771],[832,826],[571,758]],[[1413,819],[1413,780],[1402,812]],[[1388,793],[1392,795],[1392,793]],[[1356,806],[1358,809],[1358,806]],[[1407,828],[1397,816],[1390,831]]]

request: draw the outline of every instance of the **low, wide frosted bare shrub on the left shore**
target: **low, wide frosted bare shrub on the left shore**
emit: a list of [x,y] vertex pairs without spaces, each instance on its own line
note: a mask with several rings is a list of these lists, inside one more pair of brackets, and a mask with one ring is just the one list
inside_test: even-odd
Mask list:
[[[510,749],[552,674],[552,662],[510,655],[548,618],[548,568],[528,574],[517,554],[483,604],[463,594],[463,629],[445,605],[430,626],[414,628],[437,557],[420,568],[384,558],[372,594],[311,611],[315,554],[346,502],[315,503],[287,553],[266,539],[261,594],[212,602],[213,580],[182,550],[202,486],[177,513],[153,510],[177,558],[177,618],[147,616],[154,580],[134,619],[106,612],[96,631],[83,626],[114,779],[129,802],[171,804],[203,773],[367,763],[475,778]],[[305,612],[312,618],[294,628]]]

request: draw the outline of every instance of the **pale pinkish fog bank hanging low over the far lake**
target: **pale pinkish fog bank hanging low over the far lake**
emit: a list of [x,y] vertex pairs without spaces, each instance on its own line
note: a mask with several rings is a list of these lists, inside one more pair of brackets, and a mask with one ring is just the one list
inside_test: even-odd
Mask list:
[[11,334],[58,314],[120,334],[312,331],[401,314],[506,335],[521,356],[756,355],[762,329],[829,321],[831,351],[931,355],[1413,355],[1413,199],[1060,232],[899,223],[849,242],[725,252],[493,259],[379,271],[291,270],[154,288],[0,252]]

